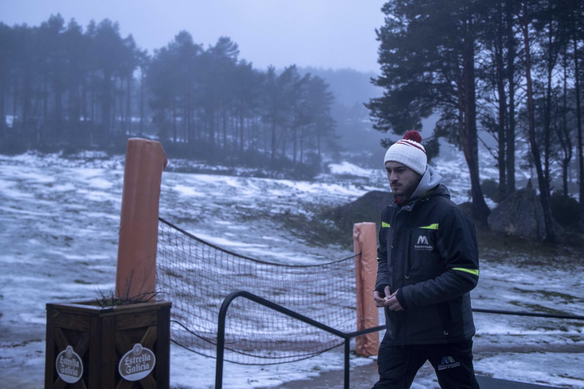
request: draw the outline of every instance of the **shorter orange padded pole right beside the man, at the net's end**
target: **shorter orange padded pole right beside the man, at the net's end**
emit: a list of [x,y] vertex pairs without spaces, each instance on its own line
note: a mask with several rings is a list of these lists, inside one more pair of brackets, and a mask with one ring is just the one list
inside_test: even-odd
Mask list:
[[[355,254],[355,276],[357,279],[357,331],[377,327],[379,310],[373,301],[373,291],[377,279],[377,234],[375,223],[355,223],[353,225]],[[379,334],[373,332],[357,336],[357,355],[377,355]]]

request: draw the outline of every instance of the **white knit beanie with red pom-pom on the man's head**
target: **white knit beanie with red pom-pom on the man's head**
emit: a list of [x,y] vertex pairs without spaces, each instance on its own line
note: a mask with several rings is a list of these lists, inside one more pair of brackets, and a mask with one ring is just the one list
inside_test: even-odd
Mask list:
[[422,136],[418,131],[408,131],[404,138],[398,140],[387,149],[383,164],[387,161],[395,161],[408,166],[418,174],[426,172],[426,150],[420,144]]

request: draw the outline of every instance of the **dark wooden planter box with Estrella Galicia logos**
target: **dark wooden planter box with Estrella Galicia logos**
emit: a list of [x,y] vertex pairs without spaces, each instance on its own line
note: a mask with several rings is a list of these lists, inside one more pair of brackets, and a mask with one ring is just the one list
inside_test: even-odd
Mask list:
[[[47,304],[45,389],[168,389],[171,303],[153,301],[105,308],[93,303],[95,300]],[[121,357],[136,343],[152,350],[154,370],[138,381],[128,381],[121,377],[118,367]],[[55,366],[57,356],[68,345],[82,360],[83,370],[78,373],[81,379],[75,383],[62,380]]]

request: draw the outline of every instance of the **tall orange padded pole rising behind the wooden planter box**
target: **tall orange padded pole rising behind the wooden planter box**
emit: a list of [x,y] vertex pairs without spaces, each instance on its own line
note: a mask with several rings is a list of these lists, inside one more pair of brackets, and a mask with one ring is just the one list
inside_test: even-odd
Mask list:
[[128,139],[121,196],[116,297],[148,300],[156,290],[158,201],[167,159],[162,144]]

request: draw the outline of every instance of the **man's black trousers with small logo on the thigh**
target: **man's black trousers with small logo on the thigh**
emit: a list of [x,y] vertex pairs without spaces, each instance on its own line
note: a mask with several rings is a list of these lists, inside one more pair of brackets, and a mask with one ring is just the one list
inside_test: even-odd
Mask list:
[[472,368],[472,339],[440,345],[391,346],[385,335],[377,356],[379,381],[371,389],[408,389],[426,360],[443,389],[478,389]]

